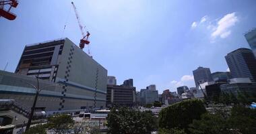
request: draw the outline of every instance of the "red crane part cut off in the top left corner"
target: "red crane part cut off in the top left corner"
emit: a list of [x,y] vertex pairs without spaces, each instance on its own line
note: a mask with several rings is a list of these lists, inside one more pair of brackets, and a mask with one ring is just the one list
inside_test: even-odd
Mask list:
[[[5,10],[4,5],[10,5],[8,10]],[[0,17],[5,17],[9,20],[14,20],[16,18],[16,15],[14,13],[11,13],[11,7],[16,8],[18,6],[18,1],[16,0],[0,0]]]

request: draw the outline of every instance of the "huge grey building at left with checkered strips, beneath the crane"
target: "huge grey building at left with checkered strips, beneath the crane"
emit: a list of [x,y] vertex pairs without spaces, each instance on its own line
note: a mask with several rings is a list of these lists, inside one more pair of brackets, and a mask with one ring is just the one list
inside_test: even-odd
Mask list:
[[[0,98],[32,107],[35,90],[44,88],[36,107],[45,111],[100,109],[106,105],[107,70],[69,39],[53,40],[24,48],[15,74],[1,71]],[[22,81],[21,81],[22,80]],[[54,84],[62,86],[50,86]]]

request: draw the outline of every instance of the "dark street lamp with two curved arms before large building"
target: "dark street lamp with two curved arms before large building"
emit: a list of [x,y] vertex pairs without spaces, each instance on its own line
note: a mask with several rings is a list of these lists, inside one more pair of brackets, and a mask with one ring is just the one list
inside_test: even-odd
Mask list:
[[26,131],[28,131],[28,129],[30,129],[30,125],[31,125],[31,121],[32,121],[32,117],[34,115],[34,109],[36,107],[36,101],[37,101],[37,98],[38,98],[38,94],[41,90],[43,90],[44,88],[48,88],[49,86],[59,86],[60,84],[52,84],[52,85],[49,85],[49,86],[44,86],[43,88],[39,88],[39,72],[40,70],[38,70],[38,75],[36,76],[36,83],[37,85],[34,86],[34,84],[31,84],[29,82],[25,82],[25,81],[22,81],[20,80],[21,82],[25,82],[26,84],[29,84],[30,86],[32,86],[35,90],[36,90],[36,96],[34,97],[34,103],[33,103],[33,106],[31,108],[31,112],[30,112],[30,115],[28,117],[28,123],[26,125]]

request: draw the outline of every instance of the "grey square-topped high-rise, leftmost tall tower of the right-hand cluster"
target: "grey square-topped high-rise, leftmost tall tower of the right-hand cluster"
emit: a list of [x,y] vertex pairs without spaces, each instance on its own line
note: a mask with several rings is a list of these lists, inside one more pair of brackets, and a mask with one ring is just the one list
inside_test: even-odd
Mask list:
[[203,68],[199,66],[199,68],[197,68],[196,70],[193,70],[193,76],[195,80],[195,86],[197,88],[201,83],[212,81],[210,68]]

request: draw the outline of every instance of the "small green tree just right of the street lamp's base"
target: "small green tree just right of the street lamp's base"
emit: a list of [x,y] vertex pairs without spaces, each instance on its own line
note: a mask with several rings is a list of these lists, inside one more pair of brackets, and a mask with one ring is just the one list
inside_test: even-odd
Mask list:
[[73,129],[73,125],[75,121],[73,121],[71,115],[55,115],[53,117],[49,117],[49,123],[47,123],[49,129],[55,131],[55,133],[67,133],[71,129]]

